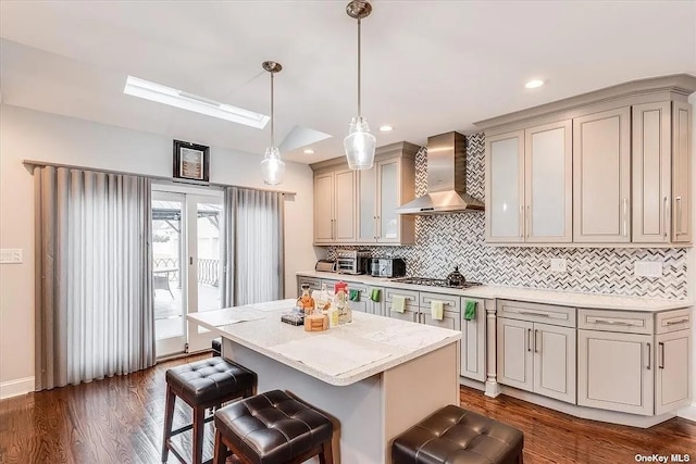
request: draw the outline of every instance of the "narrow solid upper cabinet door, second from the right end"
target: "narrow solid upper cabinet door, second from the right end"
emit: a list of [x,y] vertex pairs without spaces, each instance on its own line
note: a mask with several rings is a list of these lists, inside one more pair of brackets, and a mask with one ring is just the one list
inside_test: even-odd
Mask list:
[[633,106],[633,241],[671,240],[671,105],[670,102]]

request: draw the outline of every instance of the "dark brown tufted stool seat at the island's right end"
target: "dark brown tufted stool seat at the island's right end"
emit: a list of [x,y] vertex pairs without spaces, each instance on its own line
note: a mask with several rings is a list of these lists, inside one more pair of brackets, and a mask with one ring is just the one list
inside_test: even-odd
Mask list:
[[399,435],[397,464],[518,464],[524,436],[514,427],[448,405]]

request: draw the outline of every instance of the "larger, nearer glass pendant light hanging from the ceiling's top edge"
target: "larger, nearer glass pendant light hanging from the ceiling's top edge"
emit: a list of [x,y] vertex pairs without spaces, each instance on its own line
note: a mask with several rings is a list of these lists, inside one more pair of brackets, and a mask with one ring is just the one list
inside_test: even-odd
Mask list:
[[348,136],[344,139],[348,167],[351,170],[370,170],[374,163],[376,139],[370,133],[368,121],[362,117],[360,105],[360,20],[372,13],[372,5],[364,0],[352,0],[346,7],[348,16],[358,20],[358,116],[350,122]]

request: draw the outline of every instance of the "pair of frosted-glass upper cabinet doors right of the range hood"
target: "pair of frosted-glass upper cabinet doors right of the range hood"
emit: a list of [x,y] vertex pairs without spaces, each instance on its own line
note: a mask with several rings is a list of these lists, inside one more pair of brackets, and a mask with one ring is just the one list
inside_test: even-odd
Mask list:
[[572,240],[571,121],[486,140],[486,239]]

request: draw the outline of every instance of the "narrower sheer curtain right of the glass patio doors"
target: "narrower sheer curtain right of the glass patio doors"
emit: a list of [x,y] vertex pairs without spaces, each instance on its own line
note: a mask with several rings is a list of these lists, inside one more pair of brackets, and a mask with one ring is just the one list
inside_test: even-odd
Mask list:
[[284,298],[284,195],[228,187],[223,308]]

